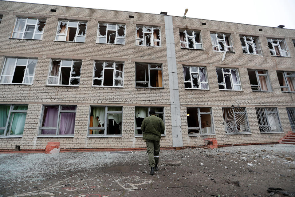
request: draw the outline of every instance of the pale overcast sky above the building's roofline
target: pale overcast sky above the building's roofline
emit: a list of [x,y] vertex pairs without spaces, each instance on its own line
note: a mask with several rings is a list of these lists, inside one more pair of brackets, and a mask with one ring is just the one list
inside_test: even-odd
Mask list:
[[[18,1],[18,0],[17,0]],[[190,18],[202,18],[226,22],[295,29],[295,0],[20,0],[60,6],[86,7],[106,10],[122,10],[183,16],[184,10]],[[0,6],[1,7],[1,6]]]

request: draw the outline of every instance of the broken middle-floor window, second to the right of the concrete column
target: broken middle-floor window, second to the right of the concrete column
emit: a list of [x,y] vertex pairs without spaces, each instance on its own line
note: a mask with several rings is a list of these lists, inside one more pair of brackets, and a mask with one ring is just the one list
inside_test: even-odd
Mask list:
[[216,68],[219,90],[242,90],[238,69]]

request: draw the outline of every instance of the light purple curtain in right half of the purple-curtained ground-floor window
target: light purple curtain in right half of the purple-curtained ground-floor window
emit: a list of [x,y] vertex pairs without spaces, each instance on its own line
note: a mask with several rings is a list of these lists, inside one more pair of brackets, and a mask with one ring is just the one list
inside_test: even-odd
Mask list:
[[74,134],[76,113],[61,113],[59,135]]

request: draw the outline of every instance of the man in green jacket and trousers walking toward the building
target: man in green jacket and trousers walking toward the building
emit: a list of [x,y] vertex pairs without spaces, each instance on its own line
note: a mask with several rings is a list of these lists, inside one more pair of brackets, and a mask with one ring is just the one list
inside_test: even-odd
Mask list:
[[158,171],[161,133],[165,130],[164,122],[156,116],[155,110],[150,110],[150,116],[141,123],[142,138],[147,143],[148,164],[151,167],[150,175]]

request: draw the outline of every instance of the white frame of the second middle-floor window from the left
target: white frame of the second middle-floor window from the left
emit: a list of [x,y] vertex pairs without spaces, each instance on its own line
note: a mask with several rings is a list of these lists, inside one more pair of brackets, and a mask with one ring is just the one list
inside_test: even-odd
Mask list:
[[[62,61],[63,60],[71,60],[72,61],[72,64],[71,64],[71,73],[70,73],[70,76],[69,76],[69,84],[60,84],[60,78],[61,78],[61,67],[66,67],[66,68],[69,68],[70,66],[62,66]],[[52,63],[53,61],[61,61],[61,66],[59,66],[59,70],[58,70],[58,76],[49,76],[50,75],[50,70],[51,70],[51,67],[52,67]],[[79,84],[78,85],[71,85],[71,79],[80,79],[81,78],[81,75],[80,77],[72,77],[72,72],[73,72],[73,63],[74,61],[81,61],[81,64],[82,64],[82,60],[79,60],[79,59],[51,59],[50,61],[50,66],[49,66],[49,72],[48,72],[48,79],[47,79],[47,86],[79,86],[80,85],[80,81],[79,81]],[[81,65],[81,69],[82,69],[82,65]],[[58,78],[57,79],[57,82],[58,84],[49,84],[49,78]]]

